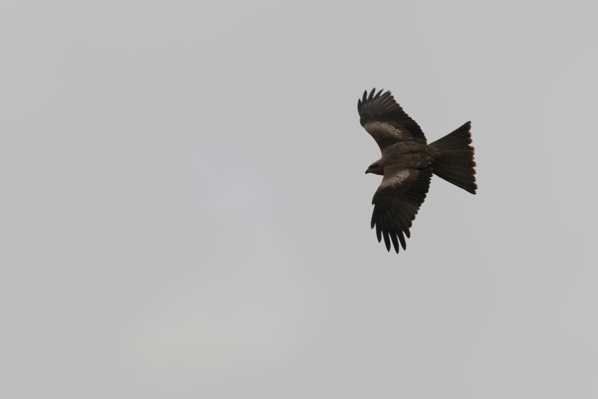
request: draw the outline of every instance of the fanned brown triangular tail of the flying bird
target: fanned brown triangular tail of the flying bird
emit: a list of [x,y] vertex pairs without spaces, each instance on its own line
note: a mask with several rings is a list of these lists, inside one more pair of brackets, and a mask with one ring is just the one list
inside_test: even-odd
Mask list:
[[[474,147],[471,147],[471,122],[454,130],[429,146],[437,150],[434,158],[434,174],[475,194]],[[436,152],[436,151],[435,151]]]

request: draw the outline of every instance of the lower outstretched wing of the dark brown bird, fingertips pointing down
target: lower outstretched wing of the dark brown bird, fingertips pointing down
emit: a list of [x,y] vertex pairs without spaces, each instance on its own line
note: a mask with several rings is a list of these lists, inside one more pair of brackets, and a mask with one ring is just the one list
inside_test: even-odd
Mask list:
[[432,167],[385,170],[382,183],[372,200],[374,212],[371,227],[376,227],[378,242],[384,237],[388,251],[391,241],[397,254],[399,242],[403,249],[407,247],[405,236],[409,238],[411,235],[411,222],[426,199],[431,177]]

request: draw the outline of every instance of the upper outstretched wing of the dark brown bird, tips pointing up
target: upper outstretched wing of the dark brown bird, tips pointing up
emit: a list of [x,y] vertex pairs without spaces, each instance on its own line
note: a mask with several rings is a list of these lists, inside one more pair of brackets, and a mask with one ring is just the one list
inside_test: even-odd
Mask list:
[[405,114],[405,111],[396,103],[390,92],[383,94],[380,90],[376,95],[376,88],[372,89],[370,96],[367,90],[364,97],[358,100],[357,111],[359,123],[376,140],[380,151],[399,141],[413,141],[426,144],[419,125]]

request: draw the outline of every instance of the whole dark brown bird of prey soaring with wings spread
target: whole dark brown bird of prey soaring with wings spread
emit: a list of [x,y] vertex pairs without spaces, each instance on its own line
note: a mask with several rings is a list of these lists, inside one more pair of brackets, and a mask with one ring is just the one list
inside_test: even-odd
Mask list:
[[[406,248],[405,236],[426,198],[432,174],[475,194],[474,147],[471,122],[428,144],[419,125],[403,111],[390,92],[367,90],[357,103],[359,123],[374,138],[382,157],[365,173],[384,176],[372,204],[371,228],[378,242],[384,237],[399,253]],[[374,94],[375,93],[375,94]]]

